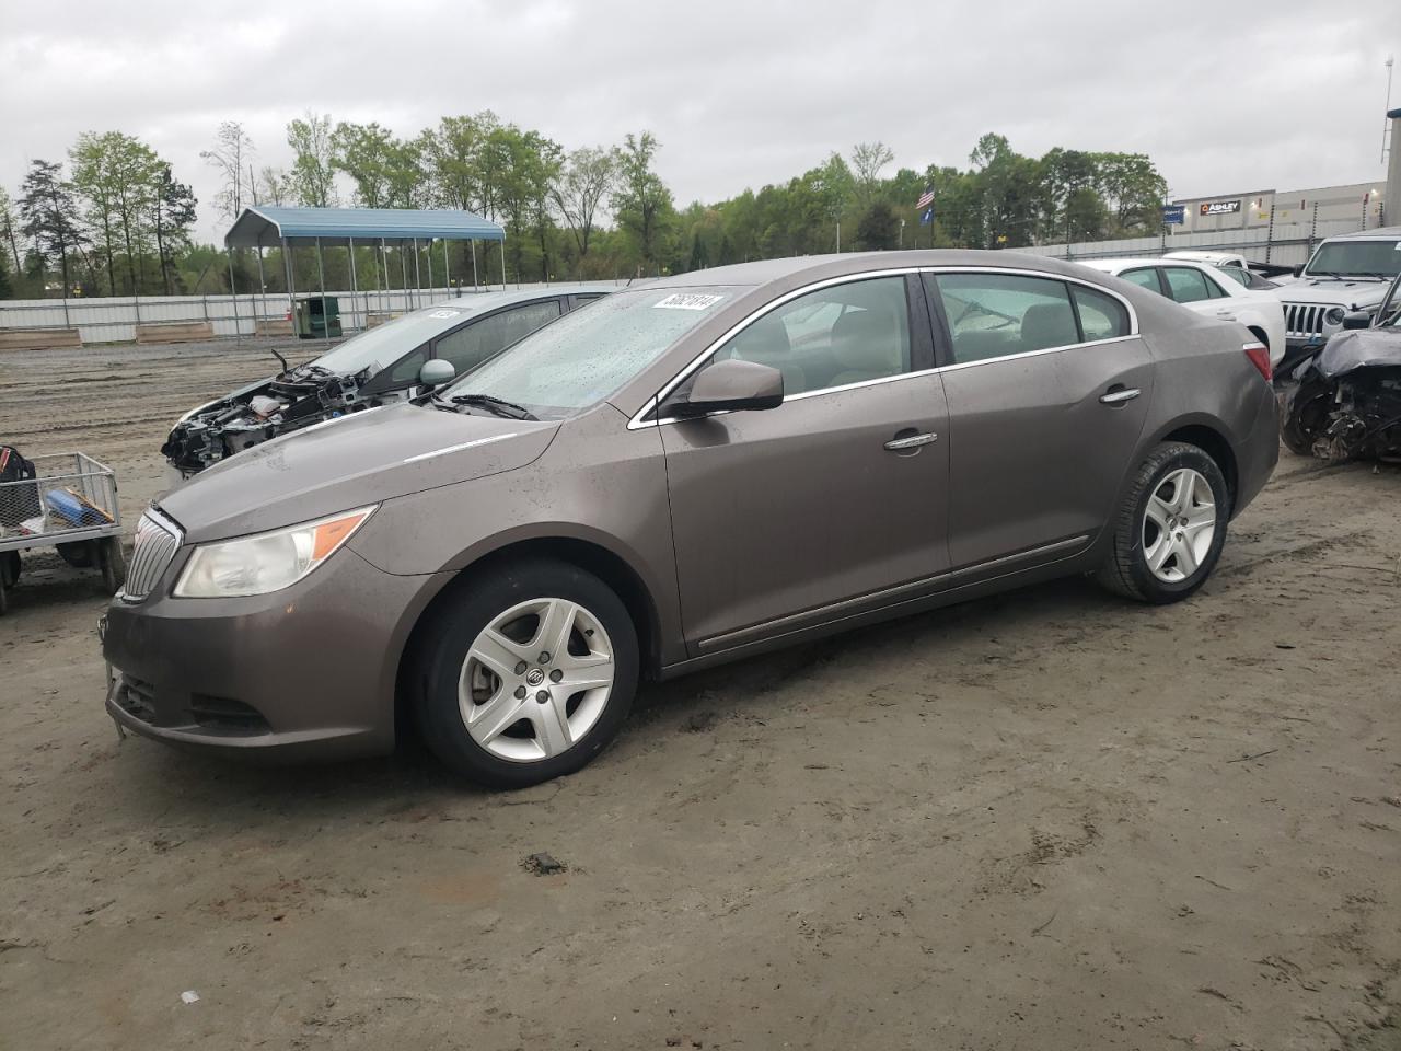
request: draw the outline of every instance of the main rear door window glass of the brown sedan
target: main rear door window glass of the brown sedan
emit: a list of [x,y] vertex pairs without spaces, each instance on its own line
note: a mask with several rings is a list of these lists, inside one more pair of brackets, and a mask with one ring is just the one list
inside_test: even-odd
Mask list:
[[940,273],[954,362],[985,362],[1083,342],[1065,282],[1012,273]]

